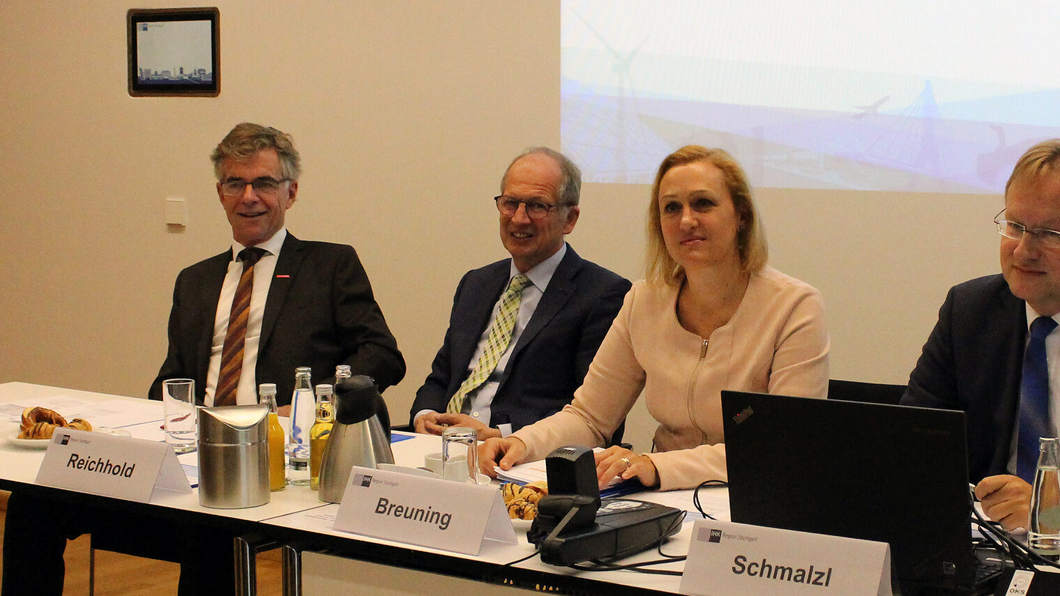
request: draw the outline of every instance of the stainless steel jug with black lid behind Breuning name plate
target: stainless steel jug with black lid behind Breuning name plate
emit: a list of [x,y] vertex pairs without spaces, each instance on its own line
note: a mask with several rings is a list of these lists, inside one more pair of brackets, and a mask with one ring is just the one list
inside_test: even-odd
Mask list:
[[320,501],[340,503],[350,469],[393,463],[390,413],[375,381],[359,374],[335,386],[335,423],[320,463]]

